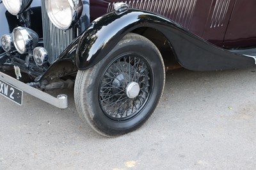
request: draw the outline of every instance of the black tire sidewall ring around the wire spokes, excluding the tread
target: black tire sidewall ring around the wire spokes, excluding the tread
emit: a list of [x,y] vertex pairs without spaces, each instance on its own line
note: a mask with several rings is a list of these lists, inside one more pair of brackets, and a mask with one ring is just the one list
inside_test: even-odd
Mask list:
[[[92,121],[93,125],[96,125],[100,131],[113,135],[131,132],[132,130],[135,130],[143,125],[143,123],[148,120],[152,112],[154,112],[156,109],[164,86],[164,67],[161,54],[155,46],[152,48],[152,45],[154,44],[140,39],[121,41],[104,59],[102,59],[95,66],[95,68],[93,68],[92,86],[88,87],[87,93],[90,97],[92,97],[89,105],[92,107],[91,109],[94,114],[89,117],[91,119],[89,121]],[[100,107],[99,86],[102,76],[108,66],[125,52],[145,56],[144,60],[150,69],[150,86],[152,87],[150,87],[147,102],[142,106],[142,108],[140,108],[140,112],[128,120],[116,121],[106,116]]]

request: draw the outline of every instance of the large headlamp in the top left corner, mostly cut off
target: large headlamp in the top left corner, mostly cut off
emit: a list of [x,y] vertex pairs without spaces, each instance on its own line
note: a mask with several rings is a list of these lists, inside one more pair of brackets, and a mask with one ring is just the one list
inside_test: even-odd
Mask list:
[[12,15],[24,12],[33,0],[3,0],[4,6]]

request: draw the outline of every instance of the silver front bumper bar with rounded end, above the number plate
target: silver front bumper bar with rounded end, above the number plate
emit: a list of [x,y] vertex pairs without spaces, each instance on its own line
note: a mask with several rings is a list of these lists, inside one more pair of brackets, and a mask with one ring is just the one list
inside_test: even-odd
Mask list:
[[44,91],[40,91],[39,89],[33,88],[33,87],[29,86],[28,84],[25,84],[24,82],[18,81],[17,79],[10,77],[9,75],[6,75],[3,72],[0,72],[0,79],[12,84],[16,88],[19,88],[20,90],[25,91],[26,93],[28,93],[32,96],[39,98],[40,100],[43,100],[44,102],[54,105],[60,109],[65,109],[68,107],[67,95],[58,95],[58,97],[52,97],[52,95],[49,95],[49,94],[45,93]]

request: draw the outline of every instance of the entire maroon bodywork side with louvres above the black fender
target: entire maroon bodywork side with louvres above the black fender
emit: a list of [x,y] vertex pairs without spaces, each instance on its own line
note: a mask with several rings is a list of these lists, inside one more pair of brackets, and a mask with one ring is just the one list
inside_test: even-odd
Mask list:
[[[113,10],[118,0],[90,2],[91,19]],[[129,8],[147,10],[171,19],[191,33],[220,47],[253,46],[256,39],[256,1],[248,0],[130,0]],[[246,29],[244,29],[246,27]]]

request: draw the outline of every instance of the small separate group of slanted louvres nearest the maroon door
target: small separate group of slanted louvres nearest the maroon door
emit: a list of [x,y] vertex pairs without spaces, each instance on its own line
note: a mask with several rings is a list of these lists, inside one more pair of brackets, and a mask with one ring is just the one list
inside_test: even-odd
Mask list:
[[230,0],[217,0],[211,17],[211,28],[222,27],[226,18]]

